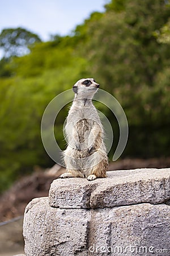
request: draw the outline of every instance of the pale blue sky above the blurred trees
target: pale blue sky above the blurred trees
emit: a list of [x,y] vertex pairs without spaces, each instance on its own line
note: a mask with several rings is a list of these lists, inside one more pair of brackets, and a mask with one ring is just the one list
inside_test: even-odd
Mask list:
[[0,32],[24,27],[42,40],[67,35],[94,11],[104,11],[107,0],[0,0]]

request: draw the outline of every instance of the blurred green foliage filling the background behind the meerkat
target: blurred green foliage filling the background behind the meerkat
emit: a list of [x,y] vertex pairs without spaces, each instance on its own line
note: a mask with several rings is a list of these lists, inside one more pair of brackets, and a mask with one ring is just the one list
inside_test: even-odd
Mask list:
[[[91,14],[72,35],[31,44],[22,57],[3,57],[0,191],[33,166],[53,163],[41,142],[42,114],[50,100],[82,77],[94,77],[124,108],[129,141],[123,157],[169,155],[170,51],[158,39],[158,31],[166,34],[169,16],[168,1],[112,0],[104,13]],[[111,121],[117,143],[116,119],[105,106],[96,106]],[[62,110],[55,126],[62,148],[67,111]]]

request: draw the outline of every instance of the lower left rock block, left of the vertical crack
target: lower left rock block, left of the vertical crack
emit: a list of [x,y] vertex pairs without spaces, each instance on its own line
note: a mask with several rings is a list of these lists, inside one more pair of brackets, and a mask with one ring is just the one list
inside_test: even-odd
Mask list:
[[66,256],[81,251],[87,245],[90,216],[91,213],[84,209],[52,208],[45,197],[32,200],[25,209],[24,217],[26,255]]

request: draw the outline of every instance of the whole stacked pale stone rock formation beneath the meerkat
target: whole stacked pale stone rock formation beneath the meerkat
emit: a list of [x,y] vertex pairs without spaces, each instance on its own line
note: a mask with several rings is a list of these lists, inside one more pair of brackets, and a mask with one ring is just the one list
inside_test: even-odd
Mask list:
[[54,180],[25,208],[26,256],[170,255],[170,169]]

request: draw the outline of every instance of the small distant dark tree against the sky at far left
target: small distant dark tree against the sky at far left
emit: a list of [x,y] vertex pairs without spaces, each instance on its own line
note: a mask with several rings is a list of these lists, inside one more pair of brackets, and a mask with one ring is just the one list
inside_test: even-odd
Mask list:
[[6,28],[0,34],[0,47],[7,59],[29,53],[29,46],[36,42],[41,42],[39,36],[21,27]]

